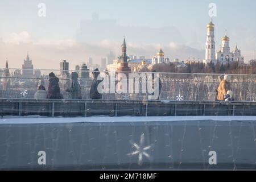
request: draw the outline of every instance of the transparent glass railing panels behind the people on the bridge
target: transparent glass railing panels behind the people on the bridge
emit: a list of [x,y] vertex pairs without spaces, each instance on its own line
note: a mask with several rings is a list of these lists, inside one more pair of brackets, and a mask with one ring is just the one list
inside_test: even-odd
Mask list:
[[[48,90],[50,72],[54,72],[59,78],[59,86],[64,99],[71,99],[71,93],[66,92],[71,88],[71,73],[75,71],[40,70],[40,74],[30,73],[22,76],[22,70],[9,69],[9,74],[5,74],[4,68],[0,69],[0,97],[1,98],[34,98],[34,94],[40,84]],[[92,85],[92,72],[79,71],[78,82],[81,88],[81,98],[90,99],[90,86]],[[197,73],[154,73],[155,78],[160,78],[159,100],[168,101],[215,101],[217,99],[217,89],[220,84],[218,76],[220,74],[197,74]],[[118,76],[119,75],[119,76]],[[120,75],[126,75],[126,79]],[[152,83],[152,73],[117,73],[101,72],[102,99],[104,100],[143,100],[152,95],[150,83]],[[232,90],[235,101],[255,101],[256,96],[256,75],[228,75],[229,80],[226,90]],[[120,82],[125,83],[126,90],[118,91]],[[155,79],[156,81],[157,79]],[[132,84],[131,84],[132,82]],[[121,84],[121,85],[122,85]],[[130,89],[130,86],[133,88]],[[149,86],[150,85],[150,86]],[[154,85],[154,84],[153,84]],[[123,88],[123,86],[121,86]],[[154,88],[151,87],[151,88]],[[113,90],[114,89],[114,90]],[[146,89],[146,90],[145,90]]]

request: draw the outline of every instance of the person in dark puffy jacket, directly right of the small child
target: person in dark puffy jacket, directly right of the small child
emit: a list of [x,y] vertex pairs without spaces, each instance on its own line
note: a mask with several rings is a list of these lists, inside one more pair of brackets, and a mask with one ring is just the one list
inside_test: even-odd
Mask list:
[[57,78],[54,73],[49,73],[48,98],[63,98],[63,96],[60,93],[59,78]]

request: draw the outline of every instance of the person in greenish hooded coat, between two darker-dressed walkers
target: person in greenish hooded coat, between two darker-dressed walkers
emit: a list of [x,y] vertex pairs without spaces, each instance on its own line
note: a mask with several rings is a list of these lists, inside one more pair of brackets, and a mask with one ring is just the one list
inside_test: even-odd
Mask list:
[[77,78],[78,78],[77,72],[72,72],[71,73],[71,79],[72,79],[71,88],[66,90],[67,92],[71,93],[72,99],[81,99],[82,98],[81,97],[81,87],[80,87],[80,84],[79,84]]

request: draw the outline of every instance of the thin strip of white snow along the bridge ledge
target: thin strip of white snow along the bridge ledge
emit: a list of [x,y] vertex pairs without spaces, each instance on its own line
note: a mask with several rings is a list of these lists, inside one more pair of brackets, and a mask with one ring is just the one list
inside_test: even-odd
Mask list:
[[1,124],[33,124],[33,123],[112,123],[112,122],[175,122],[175,121],[255,121],[255,116],[170,116],[170,117],[18,117],[18,118],[2,118]]

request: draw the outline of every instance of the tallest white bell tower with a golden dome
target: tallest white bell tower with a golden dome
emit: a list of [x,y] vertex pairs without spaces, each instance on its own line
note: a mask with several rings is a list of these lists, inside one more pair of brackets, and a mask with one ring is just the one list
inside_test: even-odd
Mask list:
[[205,60],[207,63],[210,61],[215,62],[215,41],[214,41],[214,24],[212,23],[212,19],[210,19],[210,23],[207,24],[207,43],[205,47]]

